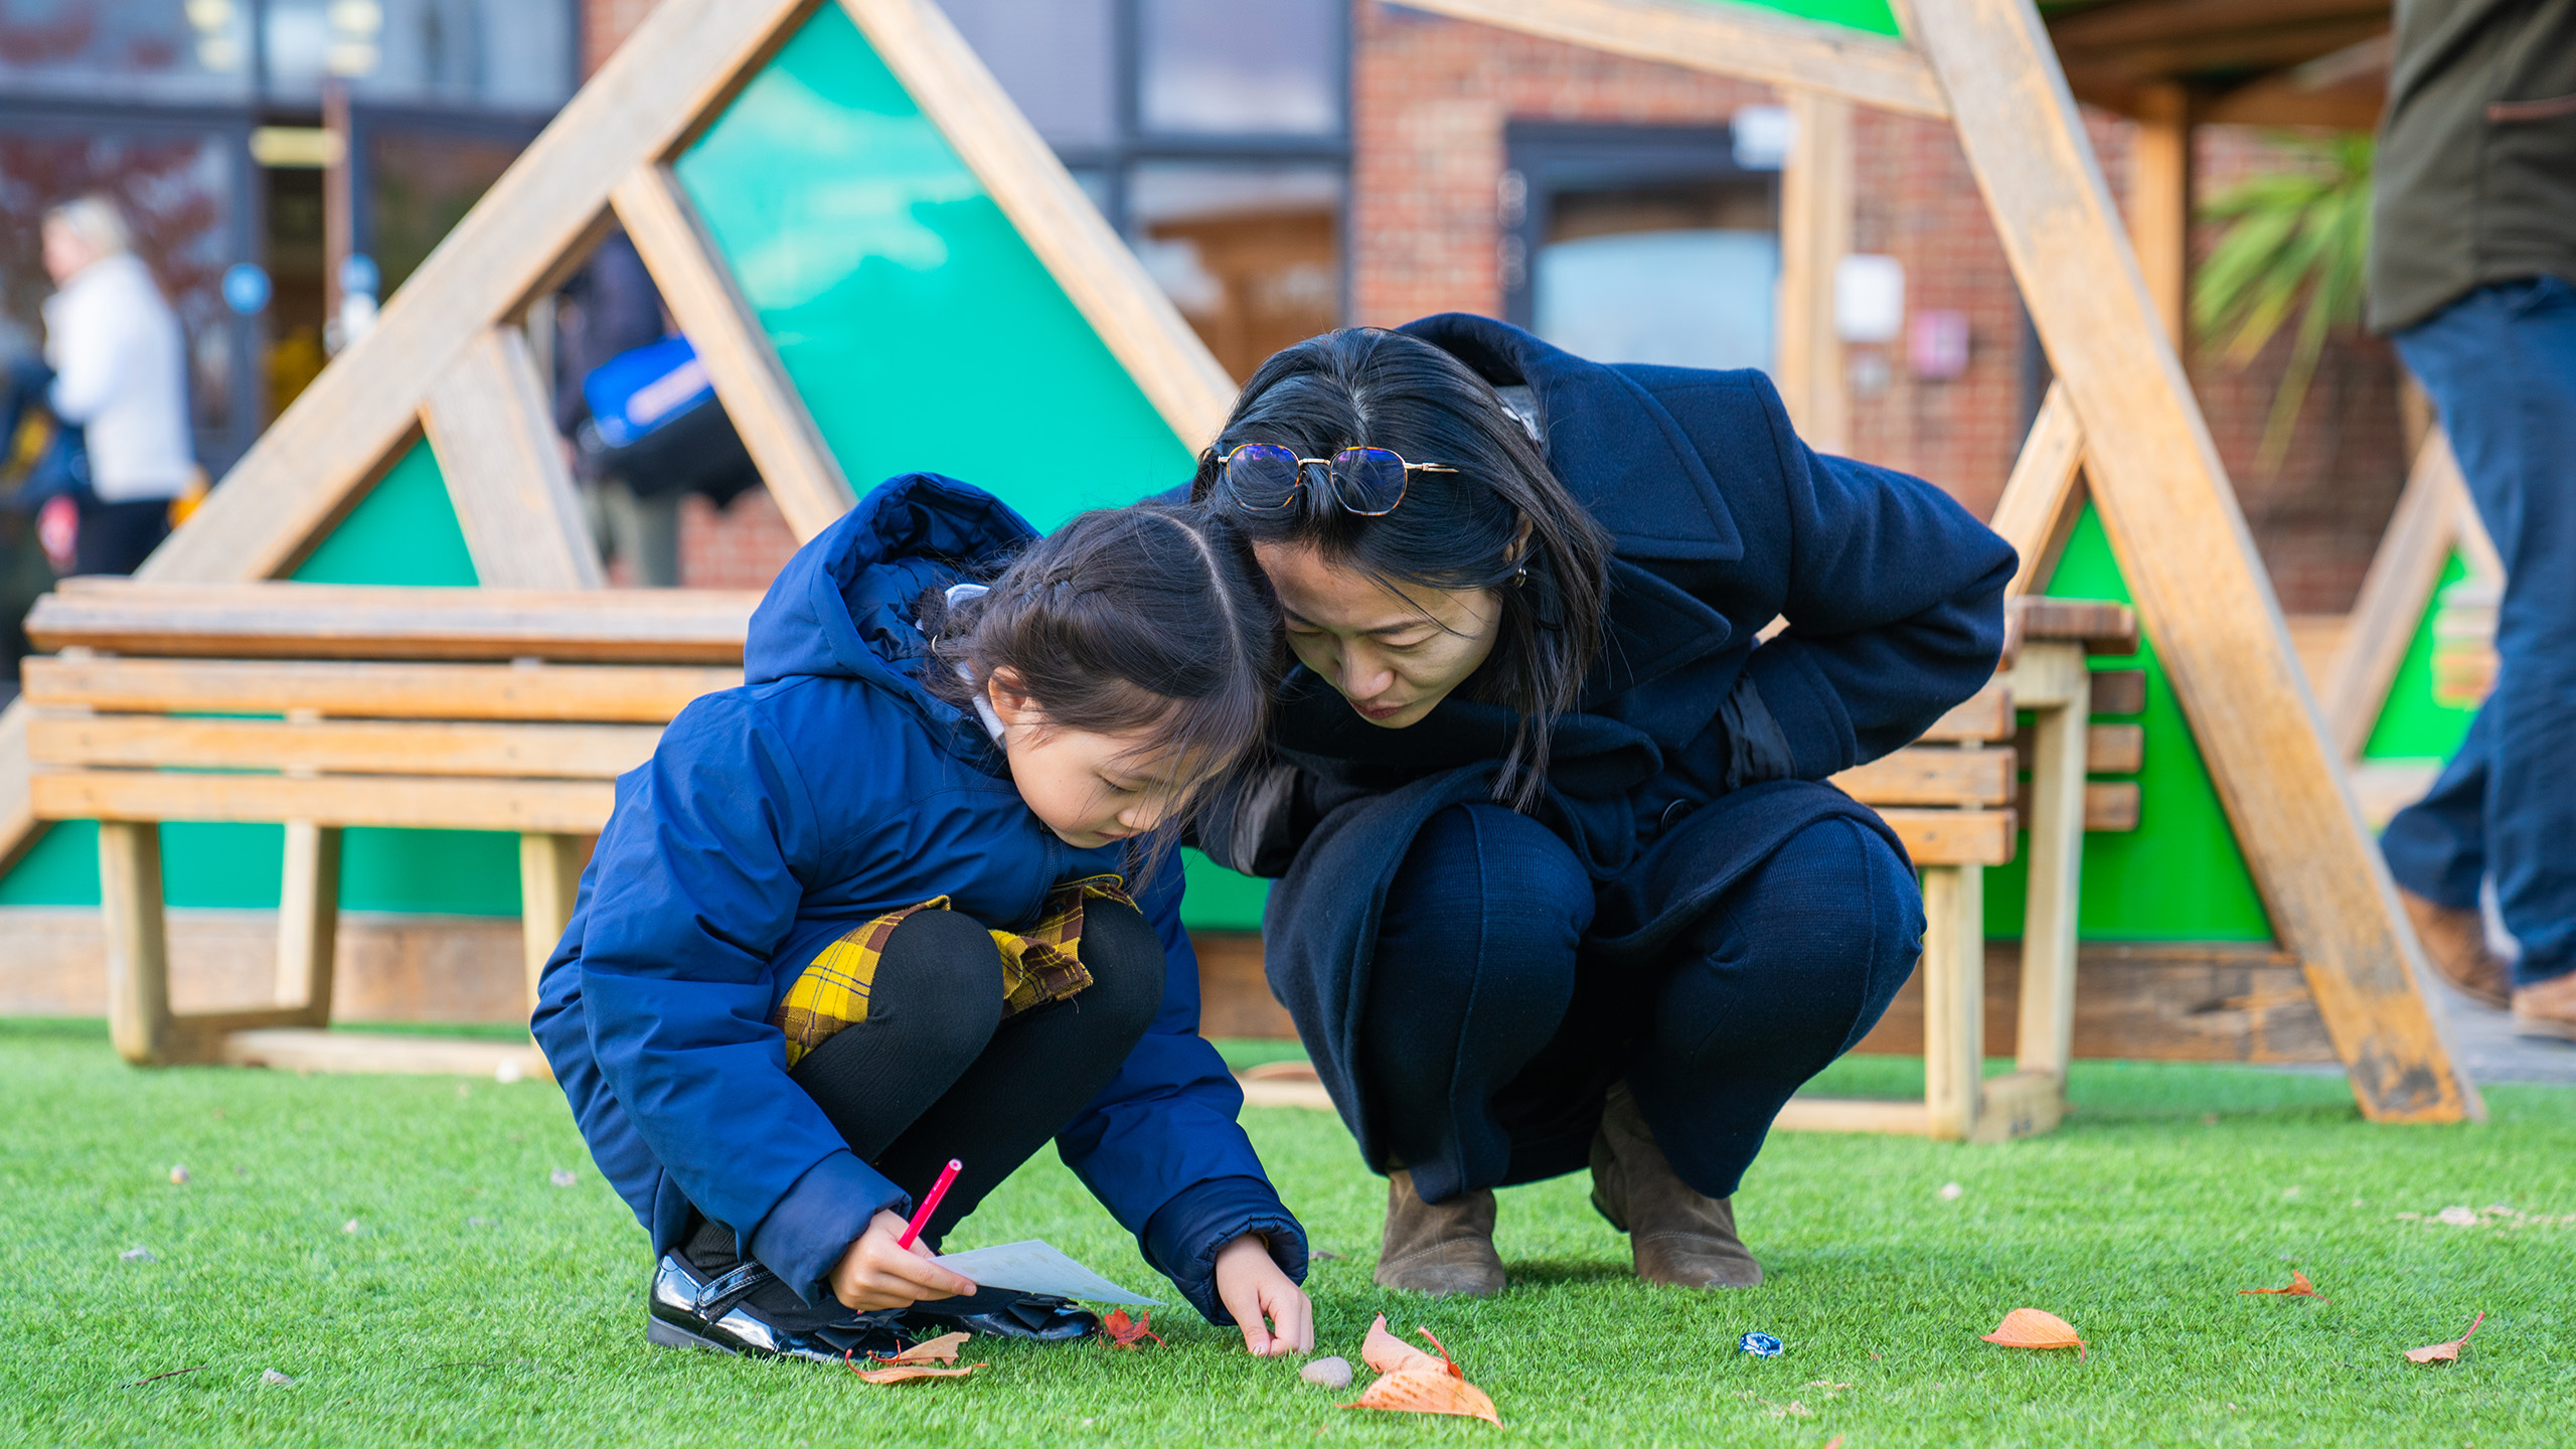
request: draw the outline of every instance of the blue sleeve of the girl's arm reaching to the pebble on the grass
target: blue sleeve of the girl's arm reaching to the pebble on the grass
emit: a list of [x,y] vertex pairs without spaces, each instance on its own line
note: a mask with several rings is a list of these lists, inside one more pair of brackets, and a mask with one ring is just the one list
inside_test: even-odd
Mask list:
[[1056,1134],[1056,1152],[1208,1323],[1234,1323],[1216,1302],[1216,1250],[1260,1232],[1280,1271],[1306,1281],[1306,1230],[1236,1122],[1234,1073],[1198,1034],[1198,954],[1180,892],[1180,859],[1167,853],[1136,897],[1162,938],[1162,1008],[1110,1085]]

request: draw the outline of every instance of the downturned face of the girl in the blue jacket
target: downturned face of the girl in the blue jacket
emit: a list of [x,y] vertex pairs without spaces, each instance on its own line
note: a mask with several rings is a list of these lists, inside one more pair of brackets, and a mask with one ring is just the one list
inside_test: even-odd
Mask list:
[[1077,851],[1144,835],[1177,810],[1200,771],[1177,750],[1146,750],[1149,730],[1095,735],[1056,730],[1033,699],[1018,694],[1018,676],[994,670],[987,694],[1002,719],[1010,781],[1030,815]]

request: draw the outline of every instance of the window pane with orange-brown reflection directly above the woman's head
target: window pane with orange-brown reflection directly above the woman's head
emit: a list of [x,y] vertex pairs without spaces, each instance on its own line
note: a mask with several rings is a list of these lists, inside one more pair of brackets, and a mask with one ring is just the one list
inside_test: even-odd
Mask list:
[[1144,162],[1128,229],[1146,273],[1236,379],[1342,320],[1342,168]]

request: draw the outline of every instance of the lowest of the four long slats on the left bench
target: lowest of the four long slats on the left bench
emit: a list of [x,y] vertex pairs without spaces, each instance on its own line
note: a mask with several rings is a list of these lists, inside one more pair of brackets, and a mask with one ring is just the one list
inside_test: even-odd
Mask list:
[[595,835],[616,786],[572,779],[296,779],[170,771],[33,771],[39,820],[312,820],[407,830]]

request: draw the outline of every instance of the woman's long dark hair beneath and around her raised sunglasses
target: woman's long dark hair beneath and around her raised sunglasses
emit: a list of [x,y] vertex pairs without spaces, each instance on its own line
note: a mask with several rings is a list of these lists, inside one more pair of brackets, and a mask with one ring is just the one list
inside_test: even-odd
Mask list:
[[[1414,472],[1404,505],[1381,518],[1347,513],[1314,487],[1262,513],[1216,487],[1218,459],[1242,443],[1309,459],[1376,446],[1458,472]],[[1515,810],[1538,799],[1556,717],[1574,709],[1602,645],[1610,534],[1566,492],[1486,379],[1404,333],[1347,327],[1309,338],[1252,374],[1226,431],[1200,454],[1190,495],[1257,544],[1311,547],[1376,580],[1494,590],[1502,634],[1471,699],[1520,712],[1494,799]]]

